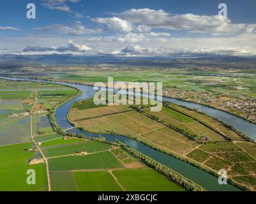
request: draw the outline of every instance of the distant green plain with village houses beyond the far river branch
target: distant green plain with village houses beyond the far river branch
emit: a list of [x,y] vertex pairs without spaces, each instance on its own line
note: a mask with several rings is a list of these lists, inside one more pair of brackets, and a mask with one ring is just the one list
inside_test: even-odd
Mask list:
[[[116,82],[162,82],[165,96],[214,106],[253,122],[256,121],[255,111],[251,111],[250,105],[245,105],[252,102],[255,106],[254,69],[242,68],[230,71],[229,68],[214,67],[195,70],[192,67],[189,66],[189,70],[185,70],[177,69],[176,66],[172,68],[114,66],[113,69],[106,71],[101,67],[95,69],[81,66],[78,70],[66,70],[65,73],[57,73],[54,77],[59,81],[91,85],[94,82],[107,83],[108,77],[113,77]],[[52,75],[48,78],[54,80]],[[229,101],[236,103],[236,106],[230,105]]]

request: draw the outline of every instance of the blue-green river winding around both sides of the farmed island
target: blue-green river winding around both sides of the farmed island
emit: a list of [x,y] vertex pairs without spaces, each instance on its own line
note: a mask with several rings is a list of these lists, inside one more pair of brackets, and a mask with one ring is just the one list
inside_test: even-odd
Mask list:
[[[84,134],[86,136],[91,136],[91,137],[100,136],[99,134],[87,133],[86,131],[81,131],[80,129],[72,128],[73,127],[72,124],[70,124],[66,118],[68,115],[68,111],[70,110],[70,107],[75,101],[92,98],[94,96],[95,91],[93,90],[92,86],[65,83],[65,82],[49,82],[45,80],[33,80],[29,78],[15,78],[15,77],[0,77],[0,78],[4,78],[7,80],[22,80],[22,81],[30,81],[30,82],[47,82],[47,83],[54,83],[54,84],[62,84],[62,85],[68,85],[70,87],[75,87],[79,89],[82,92],[80,96],[78,96],[75,99],[72,99],[71,101],[68,101],[67,103],[64,103],[63,105],[59,106],[59,108],[57,108],[56,122],[60,128],[68,129],[67,130],[68,133],[77,133],[77,134],[80,133],[80,134]],[[216,119],[223,120],[227,124],[230,124],[231,126],[238,129],[239,131],[245,133],[247,136],[250,136],[254,140],[256,139],[256,124],[253,124],[248,120],[241,119],[240,117],[236,117],[235,115],[232,115],[230,113],[223,112],[222,110],[217,110],[215,108],[182,101],[179,99],[163,97],[163,101],[169,101],[176,105],[182,105],[192,109],[197,108],[200,112],[206,113],[206,115],[210,115],[212,117],[215,117]],[[193,166],[192,164],[186,163],[185,161],[181,161],[179,159],[176,159],[175,157],[172,157],[162,152],[159,152],[157,150],[154,150],[151,147],[147,147],[147,145],[144,145],[143,143],[137,142],[130,138],[126,138],[125,136],[108,135],[108,134],[102,134],[102,136],[105,137],[106,140],[110,140],[110,141],[119,140],[124,144],[129,145],[133,149],[138,150],[142,154],[145,154],[146,156],[151,157],[152,159],[158,161],[159,163],[162,163],[165,166],[168,166],[169,168],[180,173],[184,177],[192,180],[196,184],[199,184],[200,186],[204,187],[204,189],[206,189],[207,191],[240,191],[237,187],[234,187],[230,184],[220,185],[218,184],[218,178],[215,177],[214,175],[211,175],[210,173],[207,173],[206,171],[201,170]]]

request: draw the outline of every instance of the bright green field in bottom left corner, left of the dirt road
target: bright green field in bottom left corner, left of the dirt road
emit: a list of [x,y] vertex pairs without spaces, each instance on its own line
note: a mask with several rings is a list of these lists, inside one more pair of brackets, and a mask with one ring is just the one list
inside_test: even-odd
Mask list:
[[[29,165],[34,157],[41,157],[37,152],[27,152],[33,148],[32,143],[0,147],[0,191],[45,191],[47,190],[47,173],[45,164]],[[27,170],[36,172],[36,185],[28,185]]]

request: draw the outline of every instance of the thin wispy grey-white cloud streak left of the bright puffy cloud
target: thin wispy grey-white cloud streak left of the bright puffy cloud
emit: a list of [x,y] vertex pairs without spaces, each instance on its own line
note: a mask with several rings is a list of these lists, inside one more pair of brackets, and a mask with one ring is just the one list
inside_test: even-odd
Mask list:
[[45,27],[36,27],[33,29],[34,31],[57,31],[61,34],[67,34],[70,36],[80,36],[82,34],[87,34],[87,33],[96,33],[96,32],[101,32],[100,29],[88,29],[82,25],[80,21],[75,22],[75,25],[72,27],[63,25],[63,24],[54,24],[50,26],[45,26]]

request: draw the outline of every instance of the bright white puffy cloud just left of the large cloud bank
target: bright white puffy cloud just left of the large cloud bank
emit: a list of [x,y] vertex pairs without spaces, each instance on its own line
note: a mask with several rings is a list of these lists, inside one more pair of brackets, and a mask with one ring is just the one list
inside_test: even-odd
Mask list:
[[112,18],[93,18],[94,22],[98,24],[107,25],[110,31],[123,31],[130,32],[132,31],[132,25],[130,22],[126,20],[122,20],[121,18],[112,17]]

